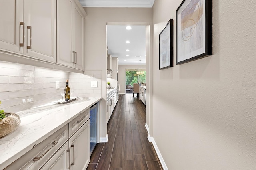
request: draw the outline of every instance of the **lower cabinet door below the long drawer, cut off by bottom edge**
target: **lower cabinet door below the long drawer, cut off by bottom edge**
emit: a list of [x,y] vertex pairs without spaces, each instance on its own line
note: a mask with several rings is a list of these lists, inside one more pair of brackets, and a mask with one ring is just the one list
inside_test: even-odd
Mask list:
[[68,168],[68,141],[44,164],[42,170],[66,170]]

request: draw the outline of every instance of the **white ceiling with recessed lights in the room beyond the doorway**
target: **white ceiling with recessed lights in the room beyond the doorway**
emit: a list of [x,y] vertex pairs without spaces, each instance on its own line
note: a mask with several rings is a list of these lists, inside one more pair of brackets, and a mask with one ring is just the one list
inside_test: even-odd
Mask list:
[[[146,26],[107,26],[108,54],[118,57],[120,65],[146,64]],[[126,41],[130,43],[126,43]],[[129,50],[129,51],[127,51]]]

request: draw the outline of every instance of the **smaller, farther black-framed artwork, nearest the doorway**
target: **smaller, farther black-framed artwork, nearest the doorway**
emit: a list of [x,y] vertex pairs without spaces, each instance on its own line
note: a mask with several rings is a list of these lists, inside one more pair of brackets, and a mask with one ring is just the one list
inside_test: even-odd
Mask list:
[[159,70],[173,67],[173,19],[159,34]]

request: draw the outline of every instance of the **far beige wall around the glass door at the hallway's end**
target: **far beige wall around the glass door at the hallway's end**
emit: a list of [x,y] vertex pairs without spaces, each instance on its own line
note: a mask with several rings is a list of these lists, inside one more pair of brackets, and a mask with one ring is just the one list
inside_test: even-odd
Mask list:
[[145,69],[146,65],[119,65],[118,80],[120,85],[120,94],[125,94],[125,69]]

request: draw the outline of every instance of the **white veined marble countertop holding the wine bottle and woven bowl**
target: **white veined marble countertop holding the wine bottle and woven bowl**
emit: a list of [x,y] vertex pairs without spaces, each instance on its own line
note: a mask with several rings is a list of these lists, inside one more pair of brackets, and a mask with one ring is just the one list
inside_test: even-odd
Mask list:
[[21,123],[17,130],[0,138],[0,169],[20,158],[23,154],[89,109],[101,97],[90,97],[66,104],[43,105],[18,112]]

